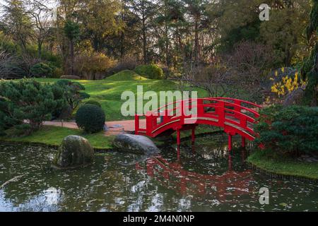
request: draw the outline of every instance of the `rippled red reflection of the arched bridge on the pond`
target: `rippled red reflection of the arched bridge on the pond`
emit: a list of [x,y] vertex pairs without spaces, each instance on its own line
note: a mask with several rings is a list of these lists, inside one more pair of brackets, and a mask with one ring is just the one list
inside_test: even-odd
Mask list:
[[[182,195],[215,196],[220,202],[230,202],[231,197],[244,195],[250,197],[254,194],[252,170],[235,171],[233,156],[230,153],[225,155],[228,158],[228,170],[223,173],[216,172],[216,174],[201,174],[185,169],[179,160],[179,148],[177,153],[176,162],[169,162],[158,155],[146,160],[144,166],[137,163],[136,169],[145,170],[149,177],[156,179],[162,186],[174,189]],[[246,150],[242,150],[240,157],[242,157],[243,164],[245,156]]]

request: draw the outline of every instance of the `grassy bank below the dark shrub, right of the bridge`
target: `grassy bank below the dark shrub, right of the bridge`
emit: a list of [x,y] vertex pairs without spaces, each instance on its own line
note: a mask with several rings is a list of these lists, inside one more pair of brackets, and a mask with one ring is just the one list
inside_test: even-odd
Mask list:
[[256,150],[249,155],[247,162],[252,163],[259,169],[274,174],[285,176],[305,177],[308,179],[318,179],[318,163],[300,162],[286,157],[269,157],[262,150]]

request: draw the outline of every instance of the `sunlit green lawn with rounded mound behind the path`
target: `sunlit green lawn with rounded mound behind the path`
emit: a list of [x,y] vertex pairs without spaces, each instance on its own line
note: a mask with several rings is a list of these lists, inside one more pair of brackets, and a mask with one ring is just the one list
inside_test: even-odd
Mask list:
[[[97,100],[102,105],[102,109],[106,114],[106,121],[128,120],[134,117],[123,117],[121,114],[121,107],[126,100],[121,100],[124,91],[132,91],[137,94],[137,85],[143,85],[143,93],[147,91],[155,91],[159,97],[160,91],[176,91],[179,90],[177,83],[167,80],[151,80],[138,79],[139,76],[133,71],[121,71],[114,76],[110,76],[99,81],[78,81],[86,88],[86,93],[90,95],[90,99]],[[141,77],[142,78],[142,77]],[[124,79],[122,81],[122,79]],[[58,78],[37,78],[37,81],[42,83],[54,83]],[[201,89],[186,88],[184,90],[198,91],[199,97],[206,97],[206,91]],[[139,93],[139,100],[142,100],[141,93]],[[137,100],[137,98],[136,98]],[[148,100],[143,101],[145,104]],[[160,107],[160,106],[158,106]]]

